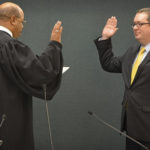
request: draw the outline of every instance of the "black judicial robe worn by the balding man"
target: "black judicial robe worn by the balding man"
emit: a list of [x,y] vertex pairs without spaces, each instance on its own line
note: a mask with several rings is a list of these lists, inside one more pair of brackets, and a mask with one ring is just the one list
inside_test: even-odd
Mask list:
[[40,56],[20,41],[0,31],[0,150],[34,150],[32,96],[51,100],[60,87],[62,45],[49,42]]

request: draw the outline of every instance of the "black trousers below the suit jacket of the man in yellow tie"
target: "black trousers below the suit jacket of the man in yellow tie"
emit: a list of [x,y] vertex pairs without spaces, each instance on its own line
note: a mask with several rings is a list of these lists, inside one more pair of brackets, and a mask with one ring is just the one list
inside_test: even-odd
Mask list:
[[[139,141],[144,146],[146,146],[150,150],[150,142]],[[126,150],[146,150],[142,146],[136,144],[135,142],[131,141],[130,139],[126,138]]]

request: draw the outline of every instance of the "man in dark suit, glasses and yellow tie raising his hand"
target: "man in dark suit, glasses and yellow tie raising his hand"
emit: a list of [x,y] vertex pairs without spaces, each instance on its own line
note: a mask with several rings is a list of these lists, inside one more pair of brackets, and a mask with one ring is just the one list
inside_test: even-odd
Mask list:
[[[138,44],[121,57],[114,56],[111,44],[111,37],[118,30],[116,17],[107,20],[102,36],[95,44],[103,69],[122,73],[124,79],[121,131],[150,149],[150,8],[137,11],[132,27]],[[126,150],[141,149],[126,139]]]

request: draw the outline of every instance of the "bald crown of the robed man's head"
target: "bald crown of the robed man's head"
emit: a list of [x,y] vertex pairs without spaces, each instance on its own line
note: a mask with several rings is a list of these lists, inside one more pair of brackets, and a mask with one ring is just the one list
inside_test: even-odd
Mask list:
[[21,17],[22,9],[11,2],[6,2],[0,5],[0,19],[8,19],[11,16]]

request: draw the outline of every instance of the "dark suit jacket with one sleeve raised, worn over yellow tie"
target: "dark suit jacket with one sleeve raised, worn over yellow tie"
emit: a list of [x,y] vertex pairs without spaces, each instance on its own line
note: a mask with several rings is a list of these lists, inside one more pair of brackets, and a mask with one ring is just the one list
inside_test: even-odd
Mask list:
[[131,85],[132,64],[140,44],[130,47],[121,57],[114,56],[111,39],[103,41],[96,39],[95,44],[103,69],[108,72],[122,73],[125,91],[122,102],[121,130],[124,131],[127,127],[128,135],[131,137],[150,141],[150,53],[140,64]]

